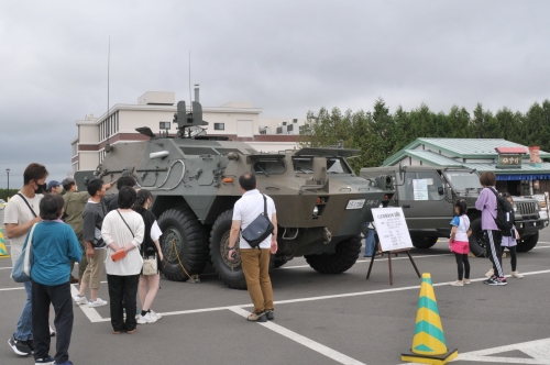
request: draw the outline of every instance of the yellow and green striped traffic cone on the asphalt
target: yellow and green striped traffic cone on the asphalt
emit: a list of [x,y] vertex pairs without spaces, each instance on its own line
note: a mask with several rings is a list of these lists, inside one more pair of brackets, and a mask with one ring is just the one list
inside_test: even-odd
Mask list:
[[422,274],[418,311],[416,314],[415,336],[410,353],[402,354],[402,361],[422,364],[447,364],[459,355],[457,349],[448,351],[443,327],[439,318],[436,292],[431,275]]

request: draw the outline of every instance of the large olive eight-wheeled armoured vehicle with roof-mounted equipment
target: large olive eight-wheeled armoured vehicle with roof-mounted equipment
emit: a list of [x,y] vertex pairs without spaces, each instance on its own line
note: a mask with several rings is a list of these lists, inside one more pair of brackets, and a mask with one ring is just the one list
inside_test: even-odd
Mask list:
[[243,142],[204,135],[201,126],[208,123],[198,102],[190,113],[178,102],[176,136],[168,135],[169,123],[161,123],[165,131],[160,135],[136,129],[148,141],[106,146],[109,152],[97,169],[78,172],[75,178],[85,185],[94,177],[109,182],[133,175],[139,188],[151,190],[167,258],[163,273],[172,280],[200,274],[210,261],[227,286],[245,288],[240,255],[228,259],[228,241],[232,209],[242,196],[238,180],[246,172],[256,174],[258,190],[275,201],[275,267],[304,256],[319,273],[345,272],[359,257],[361,224],[393,193],[365,186],[353,174],[345,157],[355,150],[258,153]]

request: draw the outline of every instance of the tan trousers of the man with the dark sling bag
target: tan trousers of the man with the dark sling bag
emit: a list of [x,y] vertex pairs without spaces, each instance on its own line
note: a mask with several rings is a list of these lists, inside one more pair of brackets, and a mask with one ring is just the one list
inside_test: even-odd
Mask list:
[[273,310],[270,259],[270,248],[241,248],[242,269],[254,305],[254,313]]

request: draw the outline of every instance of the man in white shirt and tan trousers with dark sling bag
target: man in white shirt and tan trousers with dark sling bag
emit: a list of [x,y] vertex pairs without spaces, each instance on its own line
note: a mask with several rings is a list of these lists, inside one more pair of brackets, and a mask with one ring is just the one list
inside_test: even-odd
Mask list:
[[[239,184],[243,196],[233,208],[233,223],[229,235],[229,259],[234,259],[237,256],[235,243],[241,229],[246,229],[264,211],[264,195],[256,189],[256,176],[244,174],[239,178]],[[242,236],[239,241],[242,269],[250,298],[254,303],[254,310],[248,317],[248,320],[252,322],[265,322],[274,319],[270,259],[271,254],[277,252],[277,214],[273,199],[267,196],[265,198],[267,217],[271,218],[274,226],[273,234],[268,235],[256,248],[252,248]]]

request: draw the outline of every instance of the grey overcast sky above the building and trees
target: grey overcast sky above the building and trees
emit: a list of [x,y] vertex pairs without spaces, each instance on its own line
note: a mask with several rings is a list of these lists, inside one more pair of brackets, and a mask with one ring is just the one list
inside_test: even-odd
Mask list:
[[548,1],[0,0],[0,187],[70,172],[75,121],[145,91],[261,117],[308,110],[526,111],[550,98]]

